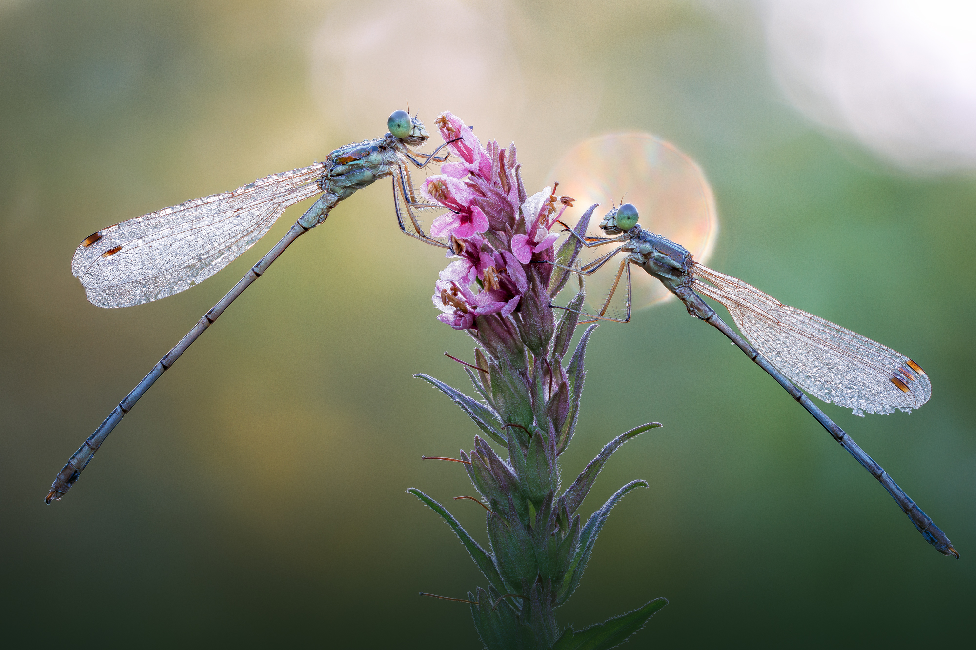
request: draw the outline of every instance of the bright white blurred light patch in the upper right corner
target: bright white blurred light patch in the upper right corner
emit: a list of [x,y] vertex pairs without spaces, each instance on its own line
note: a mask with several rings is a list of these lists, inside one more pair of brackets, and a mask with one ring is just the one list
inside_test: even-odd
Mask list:
[[760,0],[806,116],[917,173],[976,168],[976,1]]

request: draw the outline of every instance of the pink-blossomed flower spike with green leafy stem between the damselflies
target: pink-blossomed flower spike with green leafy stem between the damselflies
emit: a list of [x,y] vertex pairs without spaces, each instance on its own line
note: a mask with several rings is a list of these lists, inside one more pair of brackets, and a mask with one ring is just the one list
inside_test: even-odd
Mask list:
[[[546,187],[529,196],[514,144],[482,147],[464,122],[449,112],[436,122],[458,162],[424,184],[425,198],[451,212],[431,226],[449,237],[455,258],[434,285],[437,317],[474,339],[474,363],[466,364],[480,400],[418,375],[437,386],[468,414],[481,435],[458,460],[487,510],[491,550],[477,544],[440,504],[411,488],[454,529],[488,581],[468,593],[471,615],[485,645],[496,648],[610,648],[640,629],[661,607],[657,598],[629,614],[586,630],[561,630],[553,610],[580,583],[610,508],[636,480],[622,487],[582,523],[577,510],[597,473],[624,442],[658,423],[635,427],[608,443],[577,479],[562,489],[558,458],[573,438],[585,378],[584,355],[591,325],[564,365],[584,302],[583,282],[558,317],[550,306],[568,273],[545,262],[571,266],[579,237],[554,250],[552,228],[573,199]],[[583,215],[577,234],[586,232]],[[508,451],[503,459],[488,442]]]

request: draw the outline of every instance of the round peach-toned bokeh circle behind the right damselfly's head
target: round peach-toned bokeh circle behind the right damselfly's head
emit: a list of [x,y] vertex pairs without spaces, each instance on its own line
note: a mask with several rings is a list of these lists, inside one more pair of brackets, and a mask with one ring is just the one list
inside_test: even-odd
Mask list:
[[[712,253],[718,234],[712,187],[695,161],[671,142],[646,133],[590,138],[570,149],[552,168],[546,183],[555,181],[559,182],[559,194],[576,199],[575,207],[564,214],[565,223],[576,225],[590,205],[600,204],[590,219],[589,234],[592,236],[605,236],[597,226],[613,205],[619,206],[623,201],[636,206],[641,227],[684,246],[696,261],[706,263]],[[580,253],[580,262],[586,263],[608,253],[615,245],[584,249]],[[587,278],[590,309],[599,309],[603,305],[622,255]],[[630,277],[634,309],[671,297],[660,282],[638,266],[630,266]],[[575,291],[576,283],[570,282],[567,286]],[[626,292],[626,282],[622,279],[608,316],[623,315]]]

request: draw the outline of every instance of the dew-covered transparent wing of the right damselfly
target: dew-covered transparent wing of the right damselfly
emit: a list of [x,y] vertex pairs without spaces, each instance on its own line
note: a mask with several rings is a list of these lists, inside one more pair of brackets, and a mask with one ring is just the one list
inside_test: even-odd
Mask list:
[[[864,413],[906,413],[932,395],[925,372],[890,347],[693,264],[694,287],[732,314],[749,342],[796,386]],[[703,281],[704,280],[704,281]],[[708,284],[706,284],[708,282]]]

